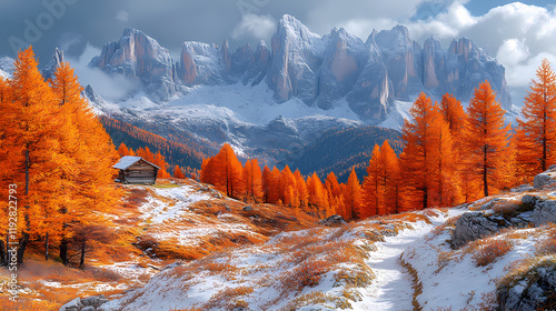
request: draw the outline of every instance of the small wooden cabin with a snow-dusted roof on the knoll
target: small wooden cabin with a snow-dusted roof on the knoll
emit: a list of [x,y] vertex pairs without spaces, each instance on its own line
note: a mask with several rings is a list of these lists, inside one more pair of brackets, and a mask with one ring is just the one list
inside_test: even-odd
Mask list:
[[143,160],[141,157],[126,156],[112,168],[119,169],[118,179],[121,183],[155,184],[159,167]]

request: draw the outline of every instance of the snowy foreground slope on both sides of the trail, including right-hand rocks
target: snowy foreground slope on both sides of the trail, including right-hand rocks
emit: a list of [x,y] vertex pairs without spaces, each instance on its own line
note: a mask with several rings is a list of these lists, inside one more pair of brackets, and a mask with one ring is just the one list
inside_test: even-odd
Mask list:
[[[282,232],[172,264],[100,310],[550,309],[554,175],[471,204]],[[470,218],[492,221],[494,231]],[[478,235],[450,247],[466,225]]]

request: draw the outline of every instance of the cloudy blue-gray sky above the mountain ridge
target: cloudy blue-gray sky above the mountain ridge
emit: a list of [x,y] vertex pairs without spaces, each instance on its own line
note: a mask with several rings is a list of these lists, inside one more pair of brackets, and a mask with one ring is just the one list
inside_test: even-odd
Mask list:
[[[499,0],[0,0],[0,56],[33,44],[41,63],[54,47],[87,58],[127,27],[145,31],[177,56],[183,41],[232,48],[269,40],[291,14],[319,34],[334,27],[366,39],[373,29],[405,24],[418,42],[471,38],[506,67],[508,84],[524,89],[543,57],[556,62],[552,1]],[[87,47],[87,49],[86,49]],[[83,54],[86,52],[86,54]]]

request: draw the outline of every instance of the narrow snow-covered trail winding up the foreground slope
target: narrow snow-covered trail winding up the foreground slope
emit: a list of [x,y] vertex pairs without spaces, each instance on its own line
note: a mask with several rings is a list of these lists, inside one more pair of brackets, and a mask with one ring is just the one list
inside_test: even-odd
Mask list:
[[367,264],[373,270],[373,283],[363,290],[361,301],[353,303],[354,310],[413,310],[411,277],[401,267],[399,257],[415,241],[423,239],[435,227],[444,223],[443,218],[431,219],[431,224],[416,224],[414,230],[403,230],[396,237],[386,237],[376,242],[376,251],[369,253]]

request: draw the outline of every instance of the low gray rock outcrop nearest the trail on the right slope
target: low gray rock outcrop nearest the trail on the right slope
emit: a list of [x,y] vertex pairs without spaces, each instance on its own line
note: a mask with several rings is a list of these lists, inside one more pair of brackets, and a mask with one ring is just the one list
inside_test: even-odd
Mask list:
[[481,212],[468,212],[461,214],[456,221],[456,230],[451,237],[451,247],[454,249],[461,248],[470,241],[481,239],[500,228],[498,223],[488,219]]

